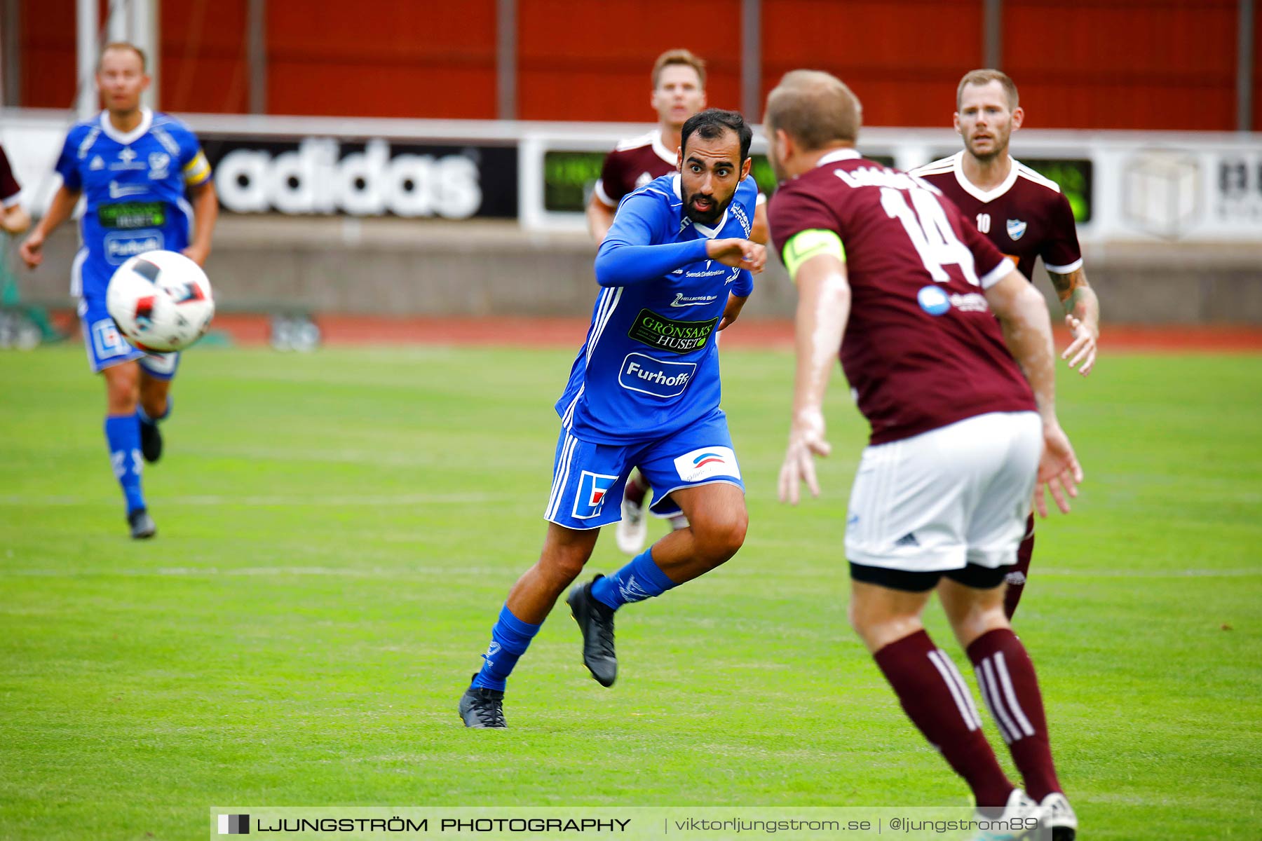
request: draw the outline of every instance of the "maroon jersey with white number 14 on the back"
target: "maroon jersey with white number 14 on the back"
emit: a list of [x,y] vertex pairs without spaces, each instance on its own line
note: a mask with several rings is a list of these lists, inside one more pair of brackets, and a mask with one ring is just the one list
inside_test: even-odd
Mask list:
[[934,187],[843,149],[781,184],[769,217],[781,252],[801,231],[842,238],[851,285],[842,368],[873,444],[1035,410],[982,294],[1012,265]]

